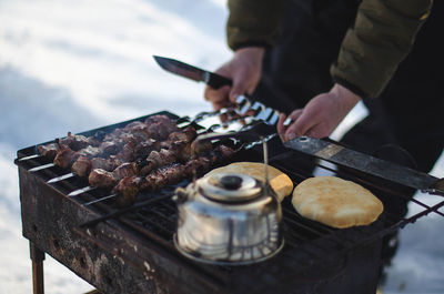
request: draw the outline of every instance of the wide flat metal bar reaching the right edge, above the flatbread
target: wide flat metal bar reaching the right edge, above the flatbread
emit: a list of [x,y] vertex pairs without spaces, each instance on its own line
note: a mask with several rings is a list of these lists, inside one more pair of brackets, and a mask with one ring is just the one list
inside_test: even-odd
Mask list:
[[422,192],[444,196],[444,179],[350,150],[322,139],[299,136],[285,142],[284,145],[341,166],[365,172]]

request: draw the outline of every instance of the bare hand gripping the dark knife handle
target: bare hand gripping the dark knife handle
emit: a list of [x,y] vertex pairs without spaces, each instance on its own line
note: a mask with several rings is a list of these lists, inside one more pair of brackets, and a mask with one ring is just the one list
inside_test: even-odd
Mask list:
[[213,104],[214,110],[220,110],[235,102],[235,99],[244,93],[252,93],[261,78],[262,59],[264,49],[248,47],[234,52],[233,58],[219,68],[215,72],[233,80],[233,85],[214,90],[205,88],[205,100]]

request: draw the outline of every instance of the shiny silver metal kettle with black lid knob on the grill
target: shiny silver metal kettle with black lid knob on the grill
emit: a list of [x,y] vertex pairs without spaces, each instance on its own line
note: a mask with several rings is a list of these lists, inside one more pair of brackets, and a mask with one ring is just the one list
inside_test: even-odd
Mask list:
[[283,246],[282,210],[268,183],[244,174],[215,174],[175,192],[176,249],[213,264],[250,264]]

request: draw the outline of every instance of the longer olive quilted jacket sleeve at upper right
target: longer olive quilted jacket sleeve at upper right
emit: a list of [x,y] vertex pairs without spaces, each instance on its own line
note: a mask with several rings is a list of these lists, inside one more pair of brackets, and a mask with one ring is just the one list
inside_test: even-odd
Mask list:
[[333,80],[377,97],[410,52],[433,0],[363,0],[331,68]]

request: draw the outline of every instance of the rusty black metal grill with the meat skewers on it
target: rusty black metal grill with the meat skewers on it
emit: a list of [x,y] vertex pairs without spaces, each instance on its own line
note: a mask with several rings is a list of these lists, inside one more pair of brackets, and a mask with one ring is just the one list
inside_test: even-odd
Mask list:
[[[403,219],[387,209],[372,225],[334,230],[301,217],[286,199],[285,244],[273,258],[245,266],[190,261],[173,244],[174,190],[220,164],[262,161],[262,149],[231,141],[198,145],[196,134],[212,128],[178,128],[178,122],[172,113],[155,113],[18,151],[34,293],[43,293],[48,253],[103,293],[373,294],[381,240],[431,212],[443,215],[444,201],[428,206],[405,196],[403,187],[340,169],[339,176],[376,195],[410,200],[423,210]],[[269,153],[270,164],[294,184],[312,176],[306,155],[286,150],[278,138],[269,141]],[[317,168],[332,171],[322,163]]]

